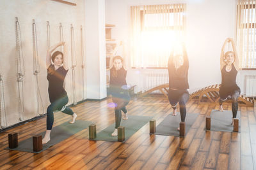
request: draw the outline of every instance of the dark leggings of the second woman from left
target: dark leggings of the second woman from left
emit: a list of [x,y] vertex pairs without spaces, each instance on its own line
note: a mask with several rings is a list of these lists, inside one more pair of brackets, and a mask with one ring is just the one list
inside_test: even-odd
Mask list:
[[115,129],[117,129],[120,126],[121,119],[122,119],[121,110],[124,111],[124,113],[127,113],[125,106],[129,103],[129,101],[125,99],[116,98],[116,97],[113,97],[112,99],[113,99],[113,103],[115,103],[115,120],[116,120]]

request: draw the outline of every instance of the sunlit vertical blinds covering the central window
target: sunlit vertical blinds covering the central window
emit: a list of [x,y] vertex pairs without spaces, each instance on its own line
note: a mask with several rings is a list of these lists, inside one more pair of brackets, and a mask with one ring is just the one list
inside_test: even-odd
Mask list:
[[166,67],[172,46],[184,41],[186,4],[131,6],[131,66]]

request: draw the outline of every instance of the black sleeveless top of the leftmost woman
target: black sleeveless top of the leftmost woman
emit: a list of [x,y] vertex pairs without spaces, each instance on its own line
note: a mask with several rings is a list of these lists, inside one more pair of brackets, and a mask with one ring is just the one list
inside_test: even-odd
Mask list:
[[67,75],[68,70],[65,70],[64,67],[59,67],[54,69],[54,65],[47,69],[47,80],[49,81],[48,93],[50,102],[53,103],[60,97],[67,96],[67,92],[63,88],[63,83],[65,76]]

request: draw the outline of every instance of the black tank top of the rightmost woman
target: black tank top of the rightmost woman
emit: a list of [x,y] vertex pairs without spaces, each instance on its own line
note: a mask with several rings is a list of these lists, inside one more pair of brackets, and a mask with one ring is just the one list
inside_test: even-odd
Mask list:
[[229,72],[226,71],[226,66],[221,69],[221,87],[232,87],[236,85],[237,71],[234,64]]

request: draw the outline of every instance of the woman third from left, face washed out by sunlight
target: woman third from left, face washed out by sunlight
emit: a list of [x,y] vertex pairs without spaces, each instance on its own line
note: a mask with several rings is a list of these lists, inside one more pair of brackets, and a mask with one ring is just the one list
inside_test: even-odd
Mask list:
[[173,108],[173,116],[177,115],[176,108],[179,102],[181,122],[185,122],[186,103],[189,99],[188,67],[188,55],[185,46],[182,45],[182,53],[172,52],[168,60],[168,98]]

